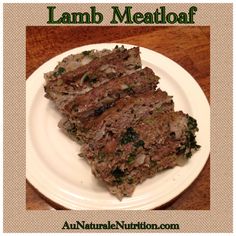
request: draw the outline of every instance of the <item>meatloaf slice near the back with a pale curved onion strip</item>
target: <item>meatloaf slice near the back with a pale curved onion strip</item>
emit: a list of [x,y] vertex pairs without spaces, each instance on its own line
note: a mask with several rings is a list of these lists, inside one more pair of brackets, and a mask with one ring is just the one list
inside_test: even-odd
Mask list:
[[[87,52],[89,53],[89,52]],[[84,94],[101,84],[131,74],[141,68],[139,48],[117,48],[107,55],[96,57],[75,70],[59,67],[55,76],[46,76],[45,96],[61,108],[78,94]]]

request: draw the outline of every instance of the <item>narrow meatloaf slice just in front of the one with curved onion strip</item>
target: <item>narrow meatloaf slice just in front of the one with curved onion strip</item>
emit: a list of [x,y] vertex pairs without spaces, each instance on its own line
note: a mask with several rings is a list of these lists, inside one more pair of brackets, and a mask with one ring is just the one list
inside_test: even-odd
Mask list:
[[62,110],[70,118],[80,120],[89,116],[99,116],[122,97],[155,91],[158,80],[159,77],[146,67],[130,75],[110,80],[86,94],[76,96]]

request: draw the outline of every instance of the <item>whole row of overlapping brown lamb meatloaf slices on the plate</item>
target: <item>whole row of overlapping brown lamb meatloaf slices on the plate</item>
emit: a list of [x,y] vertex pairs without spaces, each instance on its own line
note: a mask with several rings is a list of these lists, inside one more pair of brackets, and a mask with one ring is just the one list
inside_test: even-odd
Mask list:
[[45,97],[62,114],[59,128],[120,200],[200,148],[197,121],[174,111],[172,96],[157,88],[160,78],[142,69],[138,47],[70,55],[45,79]]

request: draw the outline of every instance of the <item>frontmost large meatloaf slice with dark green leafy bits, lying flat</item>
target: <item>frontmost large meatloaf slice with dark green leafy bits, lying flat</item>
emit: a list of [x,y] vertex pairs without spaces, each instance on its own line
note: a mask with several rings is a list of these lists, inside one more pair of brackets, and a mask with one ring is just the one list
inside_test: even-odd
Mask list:
[[158,171],[174,167],[178,158],[188,158],[199,148],[195,140],[197,122],[183,112],[155,113],[104,138],[103,147],[83,146],[93,174],[110,192],[122,199],[136,185]]

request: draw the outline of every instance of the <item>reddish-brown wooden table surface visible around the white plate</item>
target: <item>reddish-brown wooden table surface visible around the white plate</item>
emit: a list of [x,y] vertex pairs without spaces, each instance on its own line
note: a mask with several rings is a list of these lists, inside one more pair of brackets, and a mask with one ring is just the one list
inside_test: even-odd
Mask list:
[[[209,27],[27,27],[26,76],[28,78],[40,65],[62,52],[104,42],[134,44],[171,58],[196,79],[210,102]],[[26,208],[63,209],[41,195],[28,181],[26,181]],[[210,158],[189,188],[158,209],[210,209]]]

